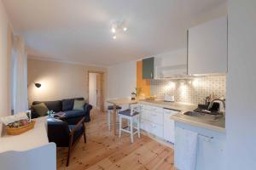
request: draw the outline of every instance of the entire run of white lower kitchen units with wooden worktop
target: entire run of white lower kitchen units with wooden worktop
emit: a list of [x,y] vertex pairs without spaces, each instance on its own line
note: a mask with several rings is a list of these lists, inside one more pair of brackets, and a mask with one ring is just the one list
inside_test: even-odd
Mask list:
[[[224,169],[224,117],[219,120],[207,120],[185,113],[194,111],[197,105],[181,102],[165,102],[163,100],[143,100],[141,105],[141,129],[146,133],[174,144],[175,153],[180,152],[176,141],[187,138],[179,133],[179,129],[196,133],[196,168],[197,170]],[[186,139],[192,141],[192,139]],[[175,162],[177,162],[175,155]],[[176,165],[177,168],[178,165]]]

